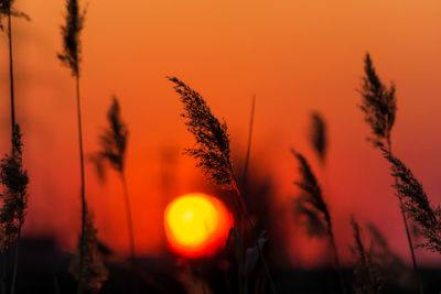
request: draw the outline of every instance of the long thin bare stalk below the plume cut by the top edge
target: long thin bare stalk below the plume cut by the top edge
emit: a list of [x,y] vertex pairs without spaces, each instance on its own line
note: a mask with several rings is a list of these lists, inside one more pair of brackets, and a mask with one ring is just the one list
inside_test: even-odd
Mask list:
[[84,151],[83,151],[83,126],[82,126],[82,104],[79,96],[79,75],[76,74],[76,105],[77,105],[77,119],[78,119],[78,142],[79,142],[79,166],[80,166],[80,175],[82,175],[82,187],[80,187],[80,196],[82,196],[82,233],[79,240],[79,275],[78,275],[78,287],[77,294],[83,293],[83,266],[84,266],[84,247],[85,247],[85,236],[84,232],[86,230],[86,195],[85,195],[85,176],[84,176]]

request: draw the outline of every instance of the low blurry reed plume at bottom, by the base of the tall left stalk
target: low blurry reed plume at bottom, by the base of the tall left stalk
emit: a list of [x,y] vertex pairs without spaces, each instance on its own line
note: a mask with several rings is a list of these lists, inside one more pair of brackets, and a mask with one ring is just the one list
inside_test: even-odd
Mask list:
[[[86,208],[84,237],[82,235],[79,236],[78,251],[71,261],[69,272],[78,281],[83,279],[84,286],[94,293],[99,292],[103,283],[108,277],[108,271],[99,252],[97,233],[98,231],[94,227],[93,215]],[[83,255],[80,255],[82,250]],[[82,259],[84,262],[80,266]]]

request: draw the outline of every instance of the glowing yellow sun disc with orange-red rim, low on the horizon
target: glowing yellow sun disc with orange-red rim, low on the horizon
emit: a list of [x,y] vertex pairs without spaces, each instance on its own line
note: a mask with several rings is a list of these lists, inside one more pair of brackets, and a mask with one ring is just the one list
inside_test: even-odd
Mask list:
[[225,246],[232,215],[225,205],[202,193],[182,195],[165,208],[169,247],[185,258],[209,257]]

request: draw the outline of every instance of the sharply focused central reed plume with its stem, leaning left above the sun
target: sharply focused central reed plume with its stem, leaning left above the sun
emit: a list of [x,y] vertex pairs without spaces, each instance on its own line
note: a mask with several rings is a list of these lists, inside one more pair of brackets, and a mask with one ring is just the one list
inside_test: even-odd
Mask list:
[[174,89],[180,95],[181,101],[184,105],[182,117],[185,119],[187,130],[196,139],[195,146],[186,149],[185,153],[197,160],[197,166],[203,170],[208,181],[225,189],[235,192],[235,200],[239,215],[249,224],[256,240],[256,247],[259,250],[260,257],[262,257],[261,260],[271,291],[276,293],[268,264],[259,246],[259,237],[249,217],[247,206],[233,171],[226,122],[220,122],[212,115],[209,107],[197,91],[190,88],[176,77],[166,78],[174,84]]

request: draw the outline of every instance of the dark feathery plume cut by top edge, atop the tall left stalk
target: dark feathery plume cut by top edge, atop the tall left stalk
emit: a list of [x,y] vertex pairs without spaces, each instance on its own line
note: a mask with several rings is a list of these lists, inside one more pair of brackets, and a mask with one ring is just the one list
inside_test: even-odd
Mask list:
[[66,24],[62,25],[63,53],[57,56],[73,76],[79,75],[82,46],[79,34],[83,30],[86,10],[79,11],[78,0],[66,0]]

